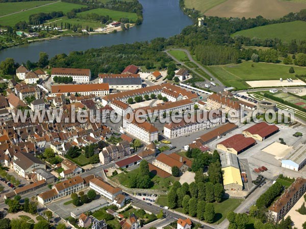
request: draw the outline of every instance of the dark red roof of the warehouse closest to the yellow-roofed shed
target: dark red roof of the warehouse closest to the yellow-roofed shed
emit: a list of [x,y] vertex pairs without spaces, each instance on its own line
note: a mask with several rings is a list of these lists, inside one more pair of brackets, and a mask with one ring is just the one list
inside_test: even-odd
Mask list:
[[252,145],[256,144],[256,140],[251,137],[245,137],[243,134],[235,134],[232,137],[221,141],[218,145],[223,145],[226,148],[233,148],[240,152]]

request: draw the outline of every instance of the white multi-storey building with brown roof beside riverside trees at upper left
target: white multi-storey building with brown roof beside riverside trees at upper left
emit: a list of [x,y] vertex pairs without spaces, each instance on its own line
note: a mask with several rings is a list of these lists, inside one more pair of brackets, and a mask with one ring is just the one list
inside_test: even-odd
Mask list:
[[75,82],[89,82],[91,80],[90,69],[79,68],[52,68],[52,79],[57,77],[72,77]]

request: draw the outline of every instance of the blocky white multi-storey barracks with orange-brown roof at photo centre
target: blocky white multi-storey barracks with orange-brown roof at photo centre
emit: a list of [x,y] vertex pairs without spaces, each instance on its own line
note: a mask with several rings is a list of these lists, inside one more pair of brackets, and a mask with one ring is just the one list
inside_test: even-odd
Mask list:
[[138,123],[135,120],[128,122],[126,119],[123,119],[123,128],[125,128],[124,130],[127,133],[140,139],[146,144],[150,144],[152,141],[158,140],[158,129],[145,120],[143,123]]

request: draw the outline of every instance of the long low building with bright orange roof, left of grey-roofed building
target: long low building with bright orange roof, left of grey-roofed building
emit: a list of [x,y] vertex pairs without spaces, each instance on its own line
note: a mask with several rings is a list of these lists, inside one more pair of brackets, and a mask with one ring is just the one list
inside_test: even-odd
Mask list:
[[64,94],[68,96],[70,94],[78,93],[82,96],[95,95],[103,97],[109,94],[108,83],[93,83],[93,84],[64,84],[64,85],[52,85],[51,94],[53,97]]

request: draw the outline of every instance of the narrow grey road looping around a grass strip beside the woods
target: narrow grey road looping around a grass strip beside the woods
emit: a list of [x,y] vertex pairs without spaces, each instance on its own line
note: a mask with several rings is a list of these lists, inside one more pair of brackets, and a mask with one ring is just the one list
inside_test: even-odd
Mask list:
[[[195,60],[193,60],[192,55],[190,54],[190,52],[187,49],[183,49],[183,48],[175,48],[175,49],[171,49],[171,50],[180,50],[183,51],[187,54],[189,61],[191,61],[192,63],[194,63],[199,69],[201,69],[202,71],[204,71],[206,74],[208,74],[211,78],[213,78],[214,82],[219,84],[219,86],[216,87],[211,87],[210,90],[214,91],[214,92],[220,92],[223,91],[223,89],[225,88],[223,83],[221,83],[221,81],[219,81],[210,71],[208,71],[206,68],[204,68],[202,65],[200,65],[199,63],[197,63]],[[186,68],[192,70],[194,73],[196,73],[199,77],[208,80],[207,78],[203,77],[202,75],[198,74],[196,71],[194,71],[195,68],[190,68],[188,66],[186,66],[184,64],[184,62],[181,62],[179,60],[177,60],[173,55],[171,55],[169,52],[169,50],[165,50],[165,52],[177,63],[181,64],[182,66],[185,66]]]

